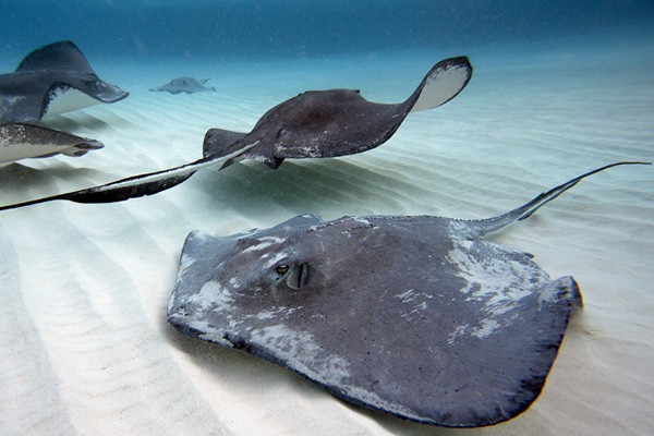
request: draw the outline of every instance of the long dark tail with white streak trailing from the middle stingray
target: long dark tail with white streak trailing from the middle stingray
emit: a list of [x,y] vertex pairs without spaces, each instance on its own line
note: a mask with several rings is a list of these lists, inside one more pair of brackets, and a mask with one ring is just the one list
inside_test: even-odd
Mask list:
[[[245,149],[253,147],[251,144]],[[129,198],[137,198],[145,195],[153,195],[182,183],[196,171],[215,165],[220,165],[242,150],[225,156],[222,158],[202,158],[191,164],[170,168],[162,171],[148,172],[145,174],[132,175],[116,182],[88,187],[85,190],[69,192],[65,194],[52,195],[49,197],[32,199],[28,202],[16,203],[7,206],[0,206],[0,211],[15,209],[19,207],[31,206],[39,203],[52,202],[56,199],[68,199],[75,203],[114,203]]]

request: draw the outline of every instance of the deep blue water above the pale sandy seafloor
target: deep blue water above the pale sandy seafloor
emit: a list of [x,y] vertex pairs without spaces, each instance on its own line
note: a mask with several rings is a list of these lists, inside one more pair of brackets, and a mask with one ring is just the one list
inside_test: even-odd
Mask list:
[[654,38],[651,0],[1,0],[0,11],[1,64],[60,39],[96,60],[223,60]]

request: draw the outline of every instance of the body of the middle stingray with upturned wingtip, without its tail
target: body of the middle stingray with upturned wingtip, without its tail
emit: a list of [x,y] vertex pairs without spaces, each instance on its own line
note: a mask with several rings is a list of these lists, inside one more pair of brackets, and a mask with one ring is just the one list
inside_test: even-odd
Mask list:
[[[220,157],[256,144],[225,166],[253,159],[275,169],[287,158],[363,153],[388,141],[412,110],[431,109],[455,98],[471,75],[468,58],[443,60],[405,101],[391,105],[368,101],[355,89],[310,90],[268,110],[250,133],[209,130],[204,156]],[[425,88],[429,92],[423,95]],[[434,88],[437,92],[432,93]],[[419,104],[421,96],[423,102]]]

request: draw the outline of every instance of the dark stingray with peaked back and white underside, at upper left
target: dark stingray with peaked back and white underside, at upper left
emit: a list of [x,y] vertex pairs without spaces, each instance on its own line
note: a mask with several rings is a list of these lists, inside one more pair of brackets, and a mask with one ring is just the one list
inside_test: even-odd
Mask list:
[[128,95],[98,77],[73,43],[55,43],[27,55],[15,72],[0,75],[0,121],[36,121]]

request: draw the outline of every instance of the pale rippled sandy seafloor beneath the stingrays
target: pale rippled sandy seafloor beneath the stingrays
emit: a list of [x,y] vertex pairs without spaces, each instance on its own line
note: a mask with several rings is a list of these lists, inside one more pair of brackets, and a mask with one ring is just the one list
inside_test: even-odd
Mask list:
[[[552,277],[573,275],[585,299],[542,396],[505,424],[447,429],[371,412],[166,323],[182,243],[194,229],[231,234],[305,213],[484,218],[595,167],[654,159],[654,45],[586,43],[288,62],[92,58],[130,97],[49,125],[106,147],[1,165],[1,204],[194,160],[207,129],[246,131],[303,90],[352,87],[395,102],[439,59],[469,55],[475,71],[459,97],[411,114],[365,154],[288,160],[276,171],[246,162],[203,170],[153,197],[2,213],[0,434],[650,434],[654,167],[594,175],[495,238],[533,253]],[[147,90],[179,75],[210,77],[217,92]]]

